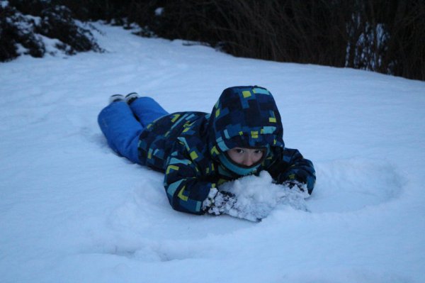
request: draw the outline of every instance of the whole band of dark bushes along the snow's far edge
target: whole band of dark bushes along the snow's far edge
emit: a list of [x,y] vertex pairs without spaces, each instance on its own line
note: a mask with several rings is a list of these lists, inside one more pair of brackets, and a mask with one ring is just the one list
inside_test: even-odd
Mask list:
[[[140,35],[181,38],[239,57],[353,67],[425,80],[424,0],[14,0],[8,3],[6,8],[0,8],[0,60],[17,56],[16,50],[13,53],[16,43],[34,50],[28,51],[33,56],[42,55],[42,46],[33,40],[39,35],[59,39],[70,53],[100,50],[88,29],[69,24],[74,17],[125,27],[137,23],[143,28]],[[61,16],[55,20],[53,14]],[[42,19],[33,25],[32,33],[5,20],[23,21],[28,27],[30,20],[22,20],[23,15]]]

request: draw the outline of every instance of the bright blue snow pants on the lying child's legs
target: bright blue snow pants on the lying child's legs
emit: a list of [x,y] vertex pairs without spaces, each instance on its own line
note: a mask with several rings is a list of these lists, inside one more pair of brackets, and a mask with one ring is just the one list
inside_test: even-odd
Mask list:
[[118,155],[140,163],[139,136],[149,123],[169,113],[150,97],[139,97],[132,104],[116,101],[98,115],[98,124],[108,145]]

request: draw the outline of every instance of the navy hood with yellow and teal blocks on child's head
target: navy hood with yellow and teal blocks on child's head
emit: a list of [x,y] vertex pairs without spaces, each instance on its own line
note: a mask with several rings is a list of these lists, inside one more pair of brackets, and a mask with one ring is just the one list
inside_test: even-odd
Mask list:
[[210,116],[210,155],[220,155],[234,147],[284,148],[280,113],[271,93],[263,87],[225,89]]

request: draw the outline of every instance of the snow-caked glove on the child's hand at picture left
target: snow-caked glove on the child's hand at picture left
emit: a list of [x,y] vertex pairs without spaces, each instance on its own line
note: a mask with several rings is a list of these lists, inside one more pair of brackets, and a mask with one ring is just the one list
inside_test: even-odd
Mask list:
[[220,215],[231,211],[237,198],[230,192],[219,192],[216,188],[210,189],[207,199],[203,201],[203,211],[214,215]]

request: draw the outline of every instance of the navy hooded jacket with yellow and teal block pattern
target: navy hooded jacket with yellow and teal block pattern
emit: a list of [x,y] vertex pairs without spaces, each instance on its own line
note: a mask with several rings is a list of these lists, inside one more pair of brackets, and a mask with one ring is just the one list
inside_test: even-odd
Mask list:
[[[226,150],[264,148],[261,164],[246,170],[229,162]],[[266,170],[281,184],[315,183],[314,167],[298,150],[285,148],[280,113],[262,87],[225,89],[211,113],[177,112],[149,124],[140,135],[139,159],[165,173],[164,187],[177,211],[202,214],[210,189]]]

